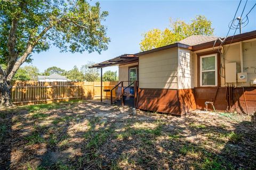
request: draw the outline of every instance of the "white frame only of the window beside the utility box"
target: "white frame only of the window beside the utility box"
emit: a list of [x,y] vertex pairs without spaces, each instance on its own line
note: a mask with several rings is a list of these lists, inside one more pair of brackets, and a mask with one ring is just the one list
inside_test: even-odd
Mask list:
[[[215,70],[207,70],[207,71],[202,71],[202,58],[207,58],[207,57],[215,57]],[[201,87],[215,87],[218,86],[218,65],[217,65],[217,54],[210,54],[210,55],[204,55],[204,56],[200,56],[200,86]],[[203,78],[203,72],[210,72],[210,71],[215,71],[215,85],[202,85],[202,78]]]

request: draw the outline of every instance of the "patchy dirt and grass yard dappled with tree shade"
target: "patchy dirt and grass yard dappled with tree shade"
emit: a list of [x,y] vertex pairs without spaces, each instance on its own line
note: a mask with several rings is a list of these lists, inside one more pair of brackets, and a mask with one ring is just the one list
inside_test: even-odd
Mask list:
[[0,169],[256,169],[246,115],[133,116],[98,101],[0,112]]

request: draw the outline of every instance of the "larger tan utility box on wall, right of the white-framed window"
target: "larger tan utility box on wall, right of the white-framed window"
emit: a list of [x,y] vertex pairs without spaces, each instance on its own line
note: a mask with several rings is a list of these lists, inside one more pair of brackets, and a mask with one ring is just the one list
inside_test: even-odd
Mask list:
[[226,83],[236,83],[236,63],[225,64]]

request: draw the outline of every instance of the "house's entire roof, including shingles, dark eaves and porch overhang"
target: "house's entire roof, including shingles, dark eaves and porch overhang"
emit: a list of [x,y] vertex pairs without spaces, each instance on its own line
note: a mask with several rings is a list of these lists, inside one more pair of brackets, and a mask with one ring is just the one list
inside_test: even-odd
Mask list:
[[[253,38],[256,38],[256,30],[251,31],[251,32],[241,33],[241,34],[238,34],[235,36],[229,36],[229,37],[227,37],[225,44],[236,43],[238,41],[244,41],[244,40],[253,39]],[[161,50],[170,49],[170,48],[174,48],[174,47],[187,48],[187,49],[190,49],[191,51],[212,48],[213,46],[218,47],[218,46],[220,46],[221,41],[217,40],[217,39],[218,39],[218,37],[214,37],[214,36],[190,36],[188,38],[185,38],[185,39],[179,41],[178,43],[174,43],[174,44],[159,47],[159,48],[150,49],[145,52],[129,54],[130,56],[132,56],[129,58],[129,60],[127,60],[127,58],[125,60],[122,60],[122,56],[127,55],[127,54],[124,54],[124,55],[118,56],[116,58],[110,59],[108,61],[101,62],[99,64],[94,64],[94,65],[90,66],[90,68],[102,68],[102,67],[106,67],[106,66],[110,66],[110,65],[117,65],[120,63],[130,62],[131,60],[136,61],[136,60],[138,60],[138,56],[140,56],[140,55],[154,53],[154,52],[158,52]],[[221,40],[223,40],[223,39],[224,38],[221,38]],[[117,60],[117,59],[121,59],[122,61],[113,62],[114,60]]]

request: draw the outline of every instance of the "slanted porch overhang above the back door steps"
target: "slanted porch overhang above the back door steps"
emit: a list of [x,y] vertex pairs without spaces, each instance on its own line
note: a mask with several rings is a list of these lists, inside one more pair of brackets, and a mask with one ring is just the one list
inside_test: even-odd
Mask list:
[[135,56],[134,54],[123,54],[121,56],[112,58],[110,60],[98,63],[98,64],[94,64],[92,66],[90,66],[89,68],[103,68],[103,67],[107,67],[107,66],[113,66],[113,65],[120,65],[120,64],[125,64],[125,63],[131,63],[131,62],[136,62],[138,61],[139,58],[137,56]]

